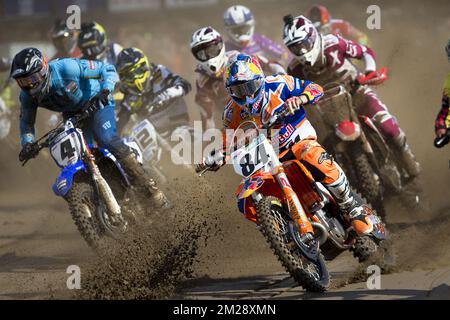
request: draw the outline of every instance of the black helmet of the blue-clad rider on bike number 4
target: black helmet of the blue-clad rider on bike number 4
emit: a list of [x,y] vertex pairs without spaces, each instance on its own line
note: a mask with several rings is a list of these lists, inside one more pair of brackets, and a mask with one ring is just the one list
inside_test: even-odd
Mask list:
[[49,84],[49,73],[45,56],[36,48],[26,48],[14,57],[10,76],[22,90],[39,96]]

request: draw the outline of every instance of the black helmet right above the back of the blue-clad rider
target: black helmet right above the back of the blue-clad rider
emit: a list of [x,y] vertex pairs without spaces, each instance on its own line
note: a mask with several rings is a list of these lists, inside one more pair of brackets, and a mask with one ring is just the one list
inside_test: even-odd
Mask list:
[[98,60],[106,50],[105,29],[97,22],[88,22],[81,25],[78,36],[78,47],[83,53],[83,57]]

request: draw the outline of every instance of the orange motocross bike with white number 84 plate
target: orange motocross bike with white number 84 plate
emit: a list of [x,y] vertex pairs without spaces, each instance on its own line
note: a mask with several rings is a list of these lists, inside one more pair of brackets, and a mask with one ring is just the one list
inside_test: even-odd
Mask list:
[[[287,114],[280,112],[272,117],[265,129]],[[238,206],[247,219],[258,224],[281,264],[300,286],[307,291],[325,291],[330,283],[325,260],[346,250],[353,251],[360,262],[377,251],[382,253],[380,245],[387,239],[387,230],[375,213],[370,216],[372,233],[357,237],[332,195],[314,181],[303,164],[298,160],[282,163],[255,122],[239,126],[249,127],[255,133],[253,137],[246,134],[247,139],[239,146],[233,136],[230,149],[234,170],[243,177],[236,193]],[[198,167],[197,173],[213,170],[221,159],[221,152],[207,157],[206,168]]]

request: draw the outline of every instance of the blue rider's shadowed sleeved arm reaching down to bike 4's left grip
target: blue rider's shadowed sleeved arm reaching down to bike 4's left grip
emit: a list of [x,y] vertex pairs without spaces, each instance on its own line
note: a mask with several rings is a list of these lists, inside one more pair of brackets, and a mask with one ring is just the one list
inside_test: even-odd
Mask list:
[[34,142],[37,104],[25,92],[20,93],[20,144]]

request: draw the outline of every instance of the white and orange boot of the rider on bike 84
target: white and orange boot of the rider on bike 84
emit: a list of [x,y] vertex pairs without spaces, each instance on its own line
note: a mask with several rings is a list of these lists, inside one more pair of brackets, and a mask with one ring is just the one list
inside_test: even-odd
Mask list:
[[372,214],[372,210],[355,199],[345,173],[339,165],[336,164],[336,166],[339,170],[339,178],[333,183],[325,184],[325,187],[333,195],[341,212],[348,215],[357,235],[371,233],[373,224],[369,215]]

